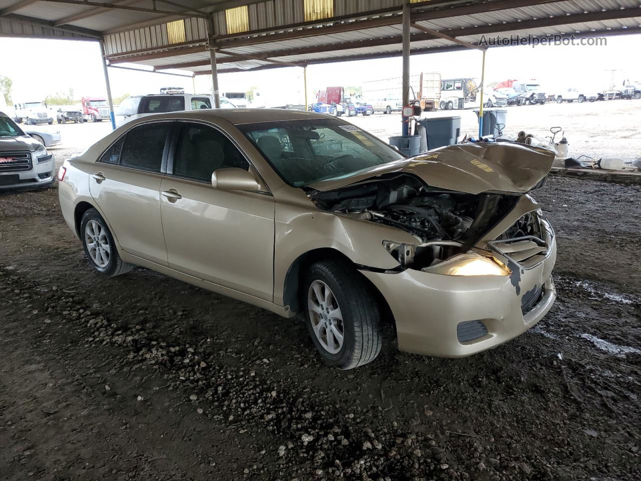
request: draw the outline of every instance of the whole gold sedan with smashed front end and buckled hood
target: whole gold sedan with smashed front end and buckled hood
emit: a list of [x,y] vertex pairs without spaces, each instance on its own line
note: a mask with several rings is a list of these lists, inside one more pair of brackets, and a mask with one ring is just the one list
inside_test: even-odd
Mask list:
[[528,192],[553,159],[508,143],[405,158],[326,115],[201,110],[129,122],[58,178],[96,271],[143,266],[304,317],[351,369],[387,321],[402,351],[463,357],[545,316],[556,242]]

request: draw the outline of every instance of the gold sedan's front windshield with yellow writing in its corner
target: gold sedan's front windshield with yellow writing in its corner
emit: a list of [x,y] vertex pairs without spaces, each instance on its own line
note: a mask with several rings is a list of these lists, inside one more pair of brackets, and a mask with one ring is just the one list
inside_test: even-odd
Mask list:
[[276,173],[294,187],[404,158],[373,135],[338,119],[258,122],[237,127]]

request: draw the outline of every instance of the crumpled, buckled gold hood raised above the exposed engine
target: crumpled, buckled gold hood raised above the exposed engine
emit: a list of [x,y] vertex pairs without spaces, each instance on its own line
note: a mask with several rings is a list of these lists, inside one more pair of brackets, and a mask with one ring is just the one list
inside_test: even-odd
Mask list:
[[549,173],[554,152],[516,142],[457,144],[311,184],[324,192],[390,173],[408,173],[431,187],[469,194],[525,194]]

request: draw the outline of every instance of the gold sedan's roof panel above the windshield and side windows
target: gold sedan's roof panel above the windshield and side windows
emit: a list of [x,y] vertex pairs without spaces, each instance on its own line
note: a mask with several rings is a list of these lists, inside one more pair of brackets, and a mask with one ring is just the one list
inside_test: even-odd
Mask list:
[[287,110],[285,108],[203,108],[199,110],[187,110],[180,112],[168,112],[167,114],[148,115],[141,119],[195,119],[203,121],[215,121],[222,119],[231,124],[253,124],[255,122],[278,122],[288,120],[304,119],[327,119],[333,117],[327,114],[316,112],[305,112],[304,110]]

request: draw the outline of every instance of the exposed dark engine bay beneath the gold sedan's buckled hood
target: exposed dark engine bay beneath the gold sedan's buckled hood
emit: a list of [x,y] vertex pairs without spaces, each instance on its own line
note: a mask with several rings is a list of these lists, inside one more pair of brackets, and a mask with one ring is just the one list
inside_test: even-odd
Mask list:
[[310,194],[324,210],[400,228],[415,236],[417,243],[411,248],[388,248],[403,267],[413,268],[469,251],[512,210],[519,197],[437,189],[411,174],[381,176]]

